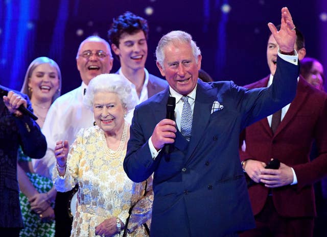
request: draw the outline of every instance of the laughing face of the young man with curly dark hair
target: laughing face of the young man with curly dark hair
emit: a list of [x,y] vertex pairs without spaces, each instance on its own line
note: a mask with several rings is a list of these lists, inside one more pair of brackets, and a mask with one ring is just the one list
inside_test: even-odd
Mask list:
[[135,34],[123,33],[119,47],[111,44],[114,54],[119,56],[122,70],[138,70],[145,67],[148,56],[147,39],[142,30]]

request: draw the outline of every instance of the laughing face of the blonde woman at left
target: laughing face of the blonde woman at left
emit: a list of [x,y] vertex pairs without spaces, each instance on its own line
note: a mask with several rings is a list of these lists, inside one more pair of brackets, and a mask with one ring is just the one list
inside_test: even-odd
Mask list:
[[36,66],[29,78],[28,86],[33,91],[31,100],[39,102],[51,101],[59,89],[57,69],[49,63]]

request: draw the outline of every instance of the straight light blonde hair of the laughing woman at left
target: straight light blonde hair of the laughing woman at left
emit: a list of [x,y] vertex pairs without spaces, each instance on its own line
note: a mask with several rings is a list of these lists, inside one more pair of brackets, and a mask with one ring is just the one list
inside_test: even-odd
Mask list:
[[48,57],[39,57],[36,58],[32,61],[32,63],[30,64],[30,66],[28,67],[26,74],[25,74],[25,78],[24,78],[24,83],[22,84],[22,87],[20,89],[21,93],[27,94],[29,96],[29,98],[31,98],[32,96],[32,92],[29,90],[29,81],[30,81],[30,77],[32,76],[33,71],[35,70],[35,68],[40,65],[40,64],[44,64],[47,63],[51,66],[53,66],[54,68],[56,68],[57,73],[58,73],[58,79],[59,79],[59,88],[56,91],[56,93],[53,95],[52,97],[52,102],[55,101],[55,99],[57,99],[60,96],[60,91],[61,91],[61,72],[60,72],[60,68],[58,66],[58,64],[48,58]]

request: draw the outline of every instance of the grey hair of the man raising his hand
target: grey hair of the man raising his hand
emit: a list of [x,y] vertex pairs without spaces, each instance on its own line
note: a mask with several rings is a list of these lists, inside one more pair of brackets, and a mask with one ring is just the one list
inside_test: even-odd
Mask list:
[[158,46],[155,50],[155,56],[156,56],[157,62],[160,64],[161,67],[164,67],[165,47],[171,43],[173,43],[173,44],[176,44],[176,43],[191,44],[193,56],[195,57],[196,62],[198,62],[198,56],[201,55],[201,50],[196,45],[195,41],[192,40],[192,36],[189,33],[186,33],[184,31],[171,31],[168,34],[161,37],[161,39],[159,40]]

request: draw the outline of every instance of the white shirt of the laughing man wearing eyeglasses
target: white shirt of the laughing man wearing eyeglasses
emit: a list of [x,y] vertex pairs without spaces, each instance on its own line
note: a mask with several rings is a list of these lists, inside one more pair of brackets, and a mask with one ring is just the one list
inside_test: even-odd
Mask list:
[[42,159],[32,159],[34,172],[51,178],[51,171],[57,162],[54,153],[56,142],[68,140],[69,145],[72,145],[81,128],[94,126],[94,114],[83,104],[86,88],[82,83],[80,87],[57,98],[51,105],[42,127],[48,148]]

